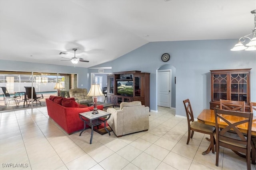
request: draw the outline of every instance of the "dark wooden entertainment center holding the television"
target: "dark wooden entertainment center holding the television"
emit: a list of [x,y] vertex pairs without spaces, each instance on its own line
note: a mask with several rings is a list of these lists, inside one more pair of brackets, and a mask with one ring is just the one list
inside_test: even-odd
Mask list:
[[142,105],[149,107],[150,73],[141,71],[114,72],[107,77],[108,103],[120,106],[121,102],[140,101]]

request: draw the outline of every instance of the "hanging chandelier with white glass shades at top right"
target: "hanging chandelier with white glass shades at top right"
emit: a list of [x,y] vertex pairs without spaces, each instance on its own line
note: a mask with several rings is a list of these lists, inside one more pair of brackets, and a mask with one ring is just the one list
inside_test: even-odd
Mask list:
[[[252,34],[252,39],[250,39],[248,37],[248,35],[241,37],[238,40],[238,43],[236,43],[236,45],[232,49],[230,49],[231,51],[240,51],[240,50],[253,51],[253,50],[256,50],[256,10],[252,10],[251,13],[254,14],[254,29],[252,30],[252,33],[250,33],[248,35]],[[243,45],[243,43],[246,41],[246,38],[250,39],[250,42],[246,44],[246,46],[248,46],[248,47],[245,47]]]

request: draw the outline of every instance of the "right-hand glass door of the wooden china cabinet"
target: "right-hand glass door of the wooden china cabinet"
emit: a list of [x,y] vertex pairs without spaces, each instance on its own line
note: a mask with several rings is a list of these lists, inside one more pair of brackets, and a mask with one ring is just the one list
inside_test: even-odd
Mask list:
[[247,103],[247,74],[238,73],[230,76],[231,100],[245,101]]

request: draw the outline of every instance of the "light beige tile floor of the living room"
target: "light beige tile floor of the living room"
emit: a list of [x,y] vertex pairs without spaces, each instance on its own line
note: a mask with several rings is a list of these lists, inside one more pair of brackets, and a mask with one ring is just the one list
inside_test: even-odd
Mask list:
[[[200,170],[246,169],[246,162],[228,149],[221,149],[219,166],[209,142],[195,133],[189,145],[187,120],[175,117],[175,109],[158,107],[150,112],[146,132],[117,138],[113,132],[100,135],[91,130],[67,135],[46,107],[0,113],[1,170]],[[9,167],[7,167],[9,166]],[[11,167],[10,167],[11,166]],[[252,170],[255,166],[251,164]]]

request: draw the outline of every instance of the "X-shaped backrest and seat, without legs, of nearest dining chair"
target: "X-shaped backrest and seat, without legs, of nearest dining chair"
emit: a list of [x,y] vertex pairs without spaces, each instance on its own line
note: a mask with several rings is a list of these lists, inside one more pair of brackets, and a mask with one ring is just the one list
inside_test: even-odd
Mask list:
[[[223,109],[214,109],[214,113],[217,142],[220,141],[221,143],[225,143],[225,147],[233,146],[242,148],[242,146],[245,145],[250,147],[253,113]],[[231,120],[231,118],[233,119]],[[224,122],[226,123],[226,125],[224,125]],[[239,127],[248,129],[246,137],[239,130]],[[227,135],[227,132],[230,131],[232,131],[232,133],[229,134],[232,135]],[[233,138],[234,136],[236,137]]]

